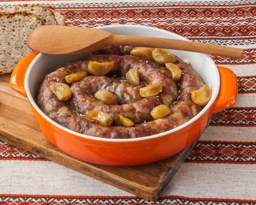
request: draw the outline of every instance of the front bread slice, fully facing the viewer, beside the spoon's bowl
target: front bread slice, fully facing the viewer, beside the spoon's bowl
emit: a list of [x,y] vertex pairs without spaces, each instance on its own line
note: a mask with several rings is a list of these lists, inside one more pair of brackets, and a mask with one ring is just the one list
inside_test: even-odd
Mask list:
[[31,31],[44,23],[34,14],[0,14],[0,74],[12,72],[19,60],[33,53],[26,40]]

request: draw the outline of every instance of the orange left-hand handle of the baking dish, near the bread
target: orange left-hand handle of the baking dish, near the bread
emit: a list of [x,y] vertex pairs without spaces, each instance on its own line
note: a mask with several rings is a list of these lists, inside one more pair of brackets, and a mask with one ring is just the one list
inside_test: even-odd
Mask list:
[[38,55],[38,53],[29,54],[23,57],[19,63],[15,66],[12,71],[12,75],[10,78],[10,88],[21,94],[24,97],[27,97],[26,90],[24,87],[24,79],[26,75],[26,71],[29,68],[30,63],[34,58]]

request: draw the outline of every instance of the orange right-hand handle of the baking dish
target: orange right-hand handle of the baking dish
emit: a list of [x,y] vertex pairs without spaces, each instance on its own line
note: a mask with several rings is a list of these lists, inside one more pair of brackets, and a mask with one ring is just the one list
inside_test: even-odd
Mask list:
[[221,66],[217,66],[217,68],[220,74],[221,85],[217,100],[210,111],[211,114],[227,108],[232,108],[236,103],[238,94],[236,74],[229,68]]

